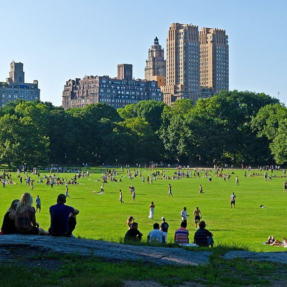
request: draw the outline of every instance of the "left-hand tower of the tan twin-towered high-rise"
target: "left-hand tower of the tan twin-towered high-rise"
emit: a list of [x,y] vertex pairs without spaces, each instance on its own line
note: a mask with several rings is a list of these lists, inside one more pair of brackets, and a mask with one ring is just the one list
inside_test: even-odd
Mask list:
[[162,89],[167,104],[199,96],[198,56],[198,26],[172,23],[166,39],[166,86]]

